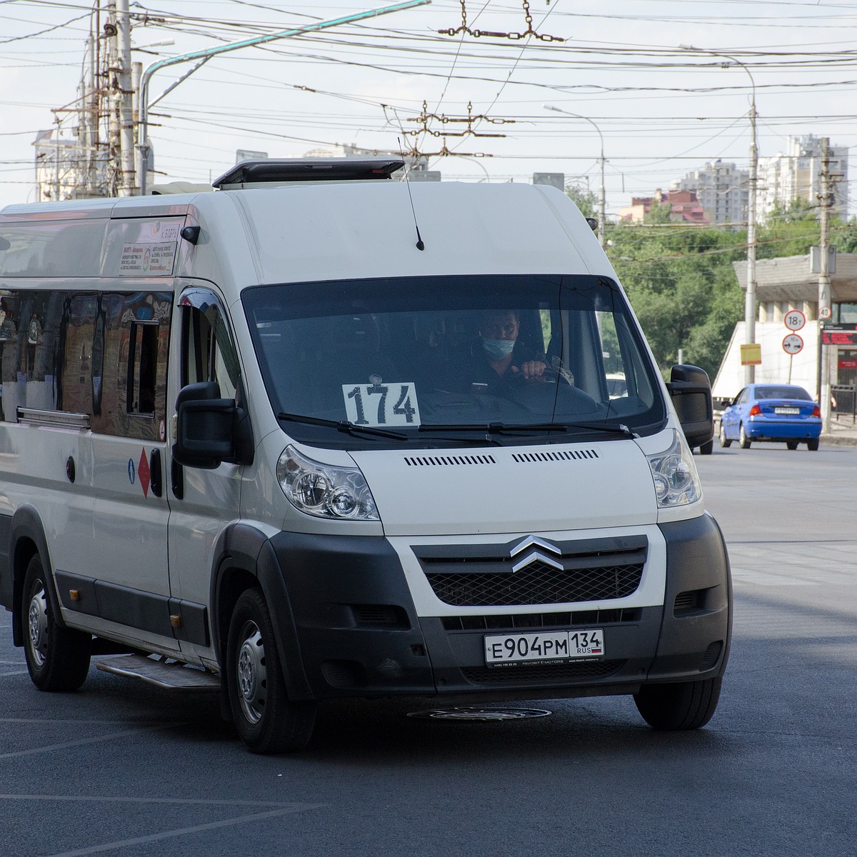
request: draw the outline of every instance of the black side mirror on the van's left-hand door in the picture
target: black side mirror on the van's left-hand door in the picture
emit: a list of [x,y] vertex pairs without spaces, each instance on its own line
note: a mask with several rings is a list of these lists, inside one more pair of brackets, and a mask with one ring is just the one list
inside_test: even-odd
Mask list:
[[214,381],[183,387],[176,397],[177,430],[172,457],[186,467],[213,470],[234,458],[233,399],[220,399]]

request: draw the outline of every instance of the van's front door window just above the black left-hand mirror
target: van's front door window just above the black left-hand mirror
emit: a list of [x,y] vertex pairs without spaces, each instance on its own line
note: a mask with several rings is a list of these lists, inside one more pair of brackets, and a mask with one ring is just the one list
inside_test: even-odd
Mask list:
[[239,375],[224,311],[212,295],[189,292],[182,299],[182,386],[215,381],[221,399],[234,399]]

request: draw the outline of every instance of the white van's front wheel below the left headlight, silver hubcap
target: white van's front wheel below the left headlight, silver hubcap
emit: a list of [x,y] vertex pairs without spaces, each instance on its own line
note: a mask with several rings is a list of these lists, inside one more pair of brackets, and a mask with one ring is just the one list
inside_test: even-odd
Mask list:
[[292,702],[261,590],[238,598],[226,644],[226,681],[232,718],[251,752],[303,750],[315,726],[315,702]]

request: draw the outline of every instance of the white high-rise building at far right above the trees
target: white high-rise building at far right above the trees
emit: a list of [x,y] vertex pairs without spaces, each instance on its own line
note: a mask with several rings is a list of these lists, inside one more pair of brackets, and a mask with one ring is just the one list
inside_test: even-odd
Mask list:
[[[770,217],[776,207],[787,208],[802,200],[818,205],[821,193],[821,138],[813,135],[792,137],[788,153],[758,159],[758,216]],[[831,213],[848,217],[848,147],[831,146],[829,171],[833,189]]]

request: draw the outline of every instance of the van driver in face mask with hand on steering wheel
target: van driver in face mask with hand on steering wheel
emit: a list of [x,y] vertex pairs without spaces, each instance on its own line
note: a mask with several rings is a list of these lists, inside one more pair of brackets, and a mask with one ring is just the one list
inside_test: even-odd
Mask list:
[[461,392],[502,395],[512,381],[544,381],[545,363],[518,342],[517,311],[488,310],[479,319],[479,339],[452,367]]

